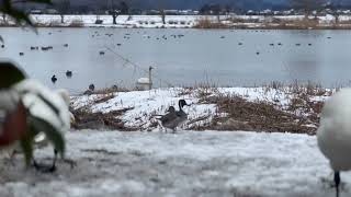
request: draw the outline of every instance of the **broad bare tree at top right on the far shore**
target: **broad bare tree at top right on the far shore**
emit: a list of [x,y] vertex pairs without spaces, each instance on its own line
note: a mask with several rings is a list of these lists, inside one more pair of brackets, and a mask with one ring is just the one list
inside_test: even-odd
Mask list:
[[315,10],[322,8],[324,0],[291,0],[291,4],[296,10],[302,10],[305,14],[305,19],[312,14]]

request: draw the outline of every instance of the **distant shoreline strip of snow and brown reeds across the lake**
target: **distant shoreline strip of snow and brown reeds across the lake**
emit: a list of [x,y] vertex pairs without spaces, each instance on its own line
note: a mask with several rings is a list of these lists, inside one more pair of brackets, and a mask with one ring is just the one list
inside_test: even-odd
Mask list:
[[[37,27],[115,27],[115,28],[201,28],[201,30],[351,30],[351,15],[31,15]],[[95,24],[101,20],[102,24]],[[0,19],[0,26],[13,27],[14,22]]]

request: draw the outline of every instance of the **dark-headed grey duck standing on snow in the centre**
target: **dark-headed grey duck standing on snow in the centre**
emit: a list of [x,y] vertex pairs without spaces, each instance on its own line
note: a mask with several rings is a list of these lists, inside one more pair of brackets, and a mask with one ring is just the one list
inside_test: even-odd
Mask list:
[[176,111],[173,106],[170,106],[168,114],[158,118],[163,127],[172,129],[173,131],[188,119],[188,114],[183,111],[183,106],[190,106],[186,104],[185,100],[179,100],[178,105],[179,111]]

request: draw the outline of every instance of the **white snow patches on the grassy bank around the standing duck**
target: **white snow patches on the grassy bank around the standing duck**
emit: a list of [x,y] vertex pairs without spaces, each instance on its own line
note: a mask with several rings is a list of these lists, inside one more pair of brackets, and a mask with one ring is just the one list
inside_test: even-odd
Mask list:
[[[210,124],[214,116],[226,116],[226,114],[218,114],[218,109],[215,104],[201,101],[201,94],[206,94],[206,97],[210,100],[211,96],[216,95],[238,95],[250,102],[263,101],[272,103],[281,109],[287,108],[292,100],[296,99],[296,95],[291,93],[288,90],[271,88],[199,88],[194,90],[170,88],[154,89],[151,91],[117,92],[113,93],[112,96],[111,94],[73,96],[71,97],[71,106],[73,108],[86,106],[93,113],[109,113],[132,108],[118,118],[125,123],[125,126],[147,129],[150,124],[152,124],[154,115],[165,114],[171,105],[178,108],[178,101],[180,99],[184,99],[189,104],[191,104],[191,106],[184,107],[185,113],[189,114],[189,121],[183,126],[183,128],[186,129],[192,128],[194,124]],[[97,103],[97,101],[105,96],[111,97],[104,102]],[[329,95],[310,96],[309,99],[312,102],[317,102],[325,101],[328,96]],[[194,121],[195,119],[201,119],[201,121]]]

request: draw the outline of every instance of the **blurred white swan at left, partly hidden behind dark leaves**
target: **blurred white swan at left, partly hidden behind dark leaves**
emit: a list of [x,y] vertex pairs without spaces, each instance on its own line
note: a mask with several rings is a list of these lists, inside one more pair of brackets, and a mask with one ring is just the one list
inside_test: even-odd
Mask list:
[[[52,91],[33,79],[22,81],[13,89],[22,95],[21,101],[32,116],[49,123],[63,136],[70,129],[71,114],[67,90]],[[39,132],[34,141],[36,146],[46,146],[48,139],[43,132]],[[33,160],[34,167],[44,172],[54,172],[57,154],[57,150],[54,150],[54,161],[50,166],[39,165]]]

